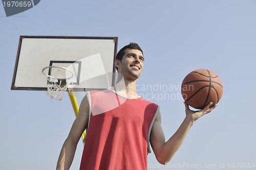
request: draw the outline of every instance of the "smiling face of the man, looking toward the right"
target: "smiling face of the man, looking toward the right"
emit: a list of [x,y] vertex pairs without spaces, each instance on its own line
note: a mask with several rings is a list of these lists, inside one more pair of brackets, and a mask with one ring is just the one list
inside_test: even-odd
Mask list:
[[140,77],[144,62],[141,51],[127,48],[122,61],[118,62],[119,73],[122,74],[124,78],[136,80]]

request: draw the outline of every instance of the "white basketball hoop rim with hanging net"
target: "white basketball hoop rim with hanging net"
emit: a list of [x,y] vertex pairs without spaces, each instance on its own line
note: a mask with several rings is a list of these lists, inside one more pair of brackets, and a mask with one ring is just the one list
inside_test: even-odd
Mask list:
[[65,67],[48,66],[42,69],[42,74],[47,80],[47,95],[51,96],[52,100],[62,100],[69,81],[74,76],[73,72]]

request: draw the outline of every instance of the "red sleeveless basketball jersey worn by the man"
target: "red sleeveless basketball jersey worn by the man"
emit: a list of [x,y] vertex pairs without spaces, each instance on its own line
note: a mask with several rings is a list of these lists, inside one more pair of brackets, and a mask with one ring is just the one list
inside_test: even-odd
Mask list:
[[87,98],[89,125],[80,170],[147,169],[158,105],[110,90],[88,92]]

